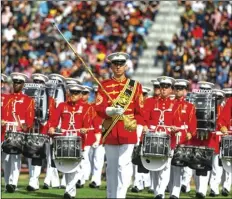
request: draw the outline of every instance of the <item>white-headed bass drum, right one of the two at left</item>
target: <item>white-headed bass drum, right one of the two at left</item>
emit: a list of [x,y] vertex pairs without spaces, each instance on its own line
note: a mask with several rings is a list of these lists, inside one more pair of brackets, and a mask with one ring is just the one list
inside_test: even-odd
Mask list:
[[57,80],[49,80],[46,83],[48,95],[55,99],[56,107],[66,100],[65,86]]

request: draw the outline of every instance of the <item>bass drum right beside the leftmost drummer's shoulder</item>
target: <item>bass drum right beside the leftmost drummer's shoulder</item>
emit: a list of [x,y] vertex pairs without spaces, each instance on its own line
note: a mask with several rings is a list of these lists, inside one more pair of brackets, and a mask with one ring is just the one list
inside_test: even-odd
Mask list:
[[48,119],[48,92],[43,84],[26,83],[22,92],[35,100],[35,117],[40,122]]

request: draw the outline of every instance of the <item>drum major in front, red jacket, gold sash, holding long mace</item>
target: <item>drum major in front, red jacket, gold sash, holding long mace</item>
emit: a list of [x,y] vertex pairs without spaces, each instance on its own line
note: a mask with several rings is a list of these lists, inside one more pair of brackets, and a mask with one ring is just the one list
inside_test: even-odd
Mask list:
[[107,59],[113,77],[102,85],[117,105],[112,105],[102,89],[96,99],[96,111],[105,119],[102,141],[107,159],[107,198],[125,198],[133,172],[131,157],[137,143],[136,126],[143,123],[144,101],[141,85],[125,76],[129,55],[116,52]]

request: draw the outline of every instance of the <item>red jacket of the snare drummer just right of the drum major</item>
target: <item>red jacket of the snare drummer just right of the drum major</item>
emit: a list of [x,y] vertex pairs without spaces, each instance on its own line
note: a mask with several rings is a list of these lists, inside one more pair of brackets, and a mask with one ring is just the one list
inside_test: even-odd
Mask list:
[[169,128],[163,128],[159,125],[173,126],[173,107],[174,101],[168,98],[159,98],[149,101],[145,112],[146,124],[151,132],[163,131],[166,130],[167,134],[170,134]]

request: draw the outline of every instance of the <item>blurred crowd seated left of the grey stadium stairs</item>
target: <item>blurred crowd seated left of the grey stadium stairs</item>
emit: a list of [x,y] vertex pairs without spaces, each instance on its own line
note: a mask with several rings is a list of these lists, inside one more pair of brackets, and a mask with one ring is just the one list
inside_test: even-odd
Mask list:
[[1,72],[60,73],[92,82],[80,61],[52,26],[58,27],[95,75],[108,78],[106,54],[131,55],[127,75],[146,48],[144,35],[155,18],[157,2],[137,1],[3,1]]

